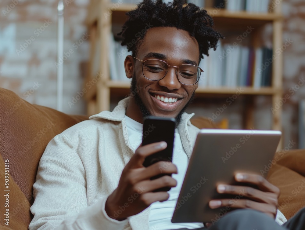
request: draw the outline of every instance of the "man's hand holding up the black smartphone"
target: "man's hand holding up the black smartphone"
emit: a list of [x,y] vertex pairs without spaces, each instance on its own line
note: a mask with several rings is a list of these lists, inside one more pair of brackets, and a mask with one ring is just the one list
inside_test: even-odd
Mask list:
[[177,173],[177,167],[171,162],[164,161],[156,162],[147,168],[143,166],[147,156],[166,147],[166,142],[161,141],[137,148],[123,169],[117,188],[106,201],[105,211],[109,217],[121,221],[142,212],[153,202],[162,202],[169,198],[167,192],[152,191],[163,187],[176,187],[177,181],[167,175],[155,180],[150,178],[161,173]]

